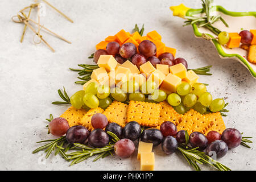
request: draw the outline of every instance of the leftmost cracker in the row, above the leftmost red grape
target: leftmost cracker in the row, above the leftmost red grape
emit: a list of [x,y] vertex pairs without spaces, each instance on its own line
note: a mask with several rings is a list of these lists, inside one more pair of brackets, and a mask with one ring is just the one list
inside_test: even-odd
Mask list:
[[63,114],[60,115],[61,118],[65,118],[68,121],[69,127],[79,125],[82,117],[86,114],[85,109],[76,109],[75,107],[69,107]]

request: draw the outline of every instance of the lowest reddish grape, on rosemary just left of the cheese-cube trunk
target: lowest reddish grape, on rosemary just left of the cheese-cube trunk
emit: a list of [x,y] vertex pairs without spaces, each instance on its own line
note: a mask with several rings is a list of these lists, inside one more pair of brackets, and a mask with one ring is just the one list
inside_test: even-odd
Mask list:
[[115,154],[117,154],[121,158],[128,158],[133,154],[135,150],[135,146],[133,141],[127,138],[123,138],[118,140],[114,145]]

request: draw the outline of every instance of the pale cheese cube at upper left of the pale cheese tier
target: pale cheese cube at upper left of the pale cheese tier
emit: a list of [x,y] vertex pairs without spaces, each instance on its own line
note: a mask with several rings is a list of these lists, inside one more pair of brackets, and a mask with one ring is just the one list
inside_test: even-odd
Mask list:
[[117,61],[112,55],[101,55],[97,62],[99,67],[104,67],[106,71],[115,69],[117,67]]

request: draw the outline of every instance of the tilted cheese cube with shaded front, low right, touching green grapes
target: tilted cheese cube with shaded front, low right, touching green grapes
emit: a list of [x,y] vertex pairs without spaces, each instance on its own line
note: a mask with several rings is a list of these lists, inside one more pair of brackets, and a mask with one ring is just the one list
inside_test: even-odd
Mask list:
[[181,84],[181,78],[169,73],[166,78],[164,78],[160,89],[168,93],[173,93],[176,92],[176,88],[179,84]]

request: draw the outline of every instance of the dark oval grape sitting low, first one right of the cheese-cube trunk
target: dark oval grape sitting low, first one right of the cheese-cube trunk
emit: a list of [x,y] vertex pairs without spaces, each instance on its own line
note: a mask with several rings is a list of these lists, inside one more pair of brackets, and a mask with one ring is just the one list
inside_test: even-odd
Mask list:
[[162,150],[164,151],[164,153],[170,155],[177,150],[177,147],[178,147],[178,143],[174,137],[168,136],[164,138],[162,142]]

